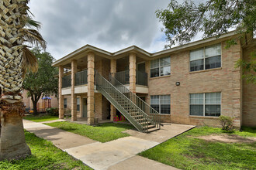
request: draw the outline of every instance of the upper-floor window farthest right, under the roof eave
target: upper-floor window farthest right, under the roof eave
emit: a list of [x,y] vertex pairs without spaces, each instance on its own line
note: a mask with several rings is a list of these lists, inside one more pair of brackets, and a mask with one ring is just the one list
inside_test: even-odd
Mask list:
[[221,44],[190,52],[190,71],[208,70],[221,66]]

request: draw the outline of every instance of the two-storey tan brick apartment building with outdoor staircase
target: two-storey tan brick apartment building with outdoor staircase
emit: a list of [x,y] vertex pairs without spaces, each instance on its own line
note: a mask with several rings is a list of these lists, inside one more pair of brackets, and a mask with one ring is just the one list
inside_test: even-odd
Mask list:
[[246,83],[238,59],[249,59],[256,41],[225,48],[229,32],[157,53],[137,46],[109,53],[86,45],[58,59],[60,118],[114,120],[123,114],[139,131],[160,122],[220,126],[219,117],[234,117],[234,126],[256,126],[256,88]]

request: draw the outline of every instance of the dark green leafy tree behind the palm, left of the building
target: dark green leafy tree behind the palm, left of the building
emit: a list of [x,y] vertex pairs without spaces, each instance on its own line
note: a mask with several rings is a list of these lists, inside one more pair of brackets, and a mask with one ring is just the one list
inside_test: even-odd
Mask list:
[[39,48],[34,48],[32,51],[38,62],[38,70],[36,73],[29,71],[26,73],[22,87],[28,90],[28,96],[33,102],[33,114],[37,114],[37,102],[40,97],[50,94],[57,94],[58,80],[55,75],[58,74],[56,67],[51,66],[54,62],[54,57],[50,53],[42,52]]

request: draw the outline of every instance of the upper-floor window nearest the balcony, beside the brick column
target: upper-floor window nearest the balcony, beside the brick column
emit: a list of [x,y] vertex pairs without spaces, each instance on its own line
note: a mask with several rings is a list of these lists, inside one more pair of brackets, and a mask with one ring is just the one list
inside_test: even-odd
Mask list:
[[170,56],[154,59],[150,62],[150,77],[166,76],[171,74]]

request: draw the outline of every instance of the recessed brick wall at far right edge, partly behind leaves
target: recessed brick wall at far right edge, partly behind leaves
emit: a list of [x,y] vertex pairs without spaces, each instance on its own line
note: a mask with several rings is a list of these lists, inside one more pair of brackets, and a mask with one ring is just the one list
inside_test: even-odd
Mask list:
[[[248,60],[256,48],[256,40],[243,49],[243,59]],[[243,125],[256,127],[256,85],[243,80]]]

